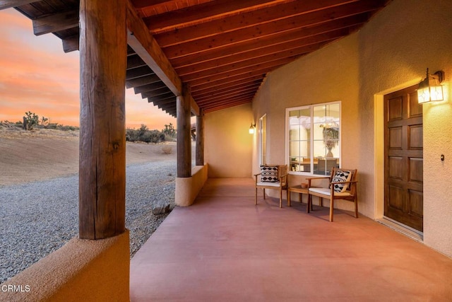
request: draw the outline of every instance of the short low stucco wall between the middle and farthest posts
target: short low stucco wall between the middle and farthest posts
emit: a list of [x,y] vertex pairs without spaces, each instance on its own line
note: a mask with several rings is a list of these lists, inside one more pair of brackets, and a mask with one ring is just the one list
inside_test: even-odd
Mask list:
[[207,180],[208,165],[196,165],[191,169],[191,178],[176,178],[174,202],[179,207],[189,207],[198,196]]

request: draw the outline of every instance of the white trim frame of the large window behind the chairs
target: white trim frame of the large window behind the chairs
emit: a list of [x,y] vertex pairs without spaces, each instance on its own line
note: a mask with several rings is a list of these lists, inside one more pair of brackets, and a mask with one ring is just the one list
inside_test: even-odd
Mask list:
[[[311,127],[314,125],[314,107],[323,106],[323,105],[333,105],[333,104],[339,104],[339,111],[340,111],[340,122],[339,122],[339,142],[340,142],[340,149],[339,149],[339,167],[342,166],[342,101],[335,100],[333,102],[327,102],[327,103],[318,103],[318,104],[309,104],[309,105],[302,105],[297,107],[290,107],[285,108],[285,164],[290,165],[289,161],[289,112],[294,110],[301,110],[301,109],[307,109],[309,108],[309,111],[311,112]],[[287,173],[291,175],[309,175],[309,176],[320,176],[318,174],[314,174],[314,135],[311,135],[311,141],[310,141],[310,153],[311,153],[311,172],[301,172],[301,171],[292,171],[290,168],[288,169]]]

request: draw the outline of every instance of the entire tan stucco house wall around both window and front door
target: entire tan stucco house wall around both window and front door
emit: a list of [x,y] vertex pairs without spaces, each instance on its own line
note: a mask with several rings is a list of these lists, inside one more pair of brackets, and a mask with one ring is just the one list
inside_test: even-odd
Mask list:
[[[383,202],[382,95],[419,83],[427,67],[444,70],[448,100],[424,105],[424,243],[450,257],[451,16],[449,0],[392,1],[359,32],[273,71],[253,103],[254,119],[267,114],[268,158],[284,162],[285,108],[341,100],[342,166],[358,169],[359,212],[376,219]],[[253,158],[256,171],[256,151]]]

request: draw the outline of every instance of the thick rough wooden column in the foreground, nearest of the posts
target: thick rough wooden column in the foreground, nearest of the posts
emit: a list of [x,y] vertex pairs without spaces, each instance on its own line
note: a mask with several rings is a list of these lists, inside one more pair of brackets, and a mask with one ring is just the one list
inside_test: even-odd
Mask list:
[[126,0],[80,1],[79,236],[125,230]]

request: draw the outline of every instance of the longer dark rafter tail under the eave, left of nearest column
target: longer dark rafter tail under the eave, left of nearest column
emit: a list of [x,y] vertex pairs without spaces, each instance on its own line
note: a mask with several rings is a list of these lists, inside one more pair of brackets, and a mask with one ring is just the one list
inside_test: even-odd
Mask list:
[[78,10],[43,16],[34,19],[32,23],[35,35],[54,33],[68,28],[78,28]]

